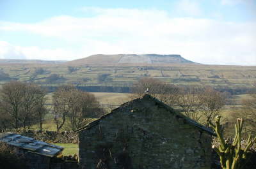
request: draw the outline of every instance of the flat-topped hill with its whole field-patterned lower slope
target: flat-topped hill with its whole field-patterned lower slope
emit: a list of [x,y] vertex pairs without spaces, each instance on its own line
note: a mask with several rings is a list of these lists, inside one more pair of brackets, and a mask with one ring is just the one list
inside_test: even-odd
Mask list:
[[[94,86],[98,88],[88,90],[97,92],[103,91],[100,88],[102,86],[131,87],[142,77],[157,78],[175,85],[209,85],[221,89],[250,88],[256,83],[256,66],[196,64],[180,55],[92,55],[56,64],[16,60],[0,62],[0,69],[0,85],[10,80],[19,80],[48,87],[63,84]],[[108,89],[108,92],[113,91],[120,92],[119,88]]]

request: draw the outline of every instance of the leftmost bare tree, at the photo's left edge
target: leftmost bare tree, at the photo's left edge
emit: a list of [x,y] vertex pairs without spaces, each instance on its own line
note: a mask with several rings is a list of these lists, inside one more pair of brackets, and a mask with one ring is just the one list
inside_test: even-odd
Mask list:
[[[0,107],[7,113],[13,128],[31,126],[36,119],[38,101],[44,99],[45,93],[38,85],[22,82],[8,82],[0,91]],[[44,107],[44,102],[42,103]]]

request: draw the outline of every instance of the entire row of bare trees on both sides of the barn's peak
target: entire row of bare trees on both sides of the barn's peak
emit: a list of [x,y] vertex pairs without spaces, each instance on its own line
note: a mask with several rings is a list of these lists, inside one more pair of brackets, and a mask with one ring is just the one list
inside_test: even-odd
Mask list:
[[[221,114],[230,97],[228,92],[216,91],[212,87],[184,87],[153,78],[141,78],[132,87],[132,98],[141,96],[147,88],[152,96],[206,126]],[[27,129],[39,124],[42,131],[45,115],[50,113],[57,131],[63,126],[74,131],[86,124],[89,118],[97,118],[105,113],[93,94],[74,86],[58,87],[52,93],[51,106],[45,103],[46,94],[44,88],[32,83],[11,81],[4,84],[0,89],[0,128]],[[256,94],[250,94],[250,98],[241,101],[241,107],[232,108],[232,115],[228,119],[223,118],[226,126],[233,125],[237,117],[243,117],[246,122],[244,131],[255,135],[255,105]]]

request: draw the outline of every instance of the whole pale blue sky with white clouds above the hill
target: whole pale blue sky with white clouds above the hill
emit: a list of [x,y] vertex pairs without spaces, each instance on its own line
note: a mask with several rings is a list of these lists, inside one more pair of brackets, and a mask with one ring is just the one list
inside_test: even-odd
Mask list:
[[256,0],[0,0],[0,59],[93,54],[256,66]]

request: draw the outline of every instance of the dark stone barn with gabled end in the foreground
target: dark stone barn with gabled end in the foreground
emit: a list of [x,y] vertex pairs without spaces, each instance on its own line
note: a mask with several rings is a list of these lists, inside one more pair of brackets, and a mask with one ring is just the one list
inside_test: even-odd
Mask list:
[[84,169],[211,168],[212,130],[149,94],[77,132]]

